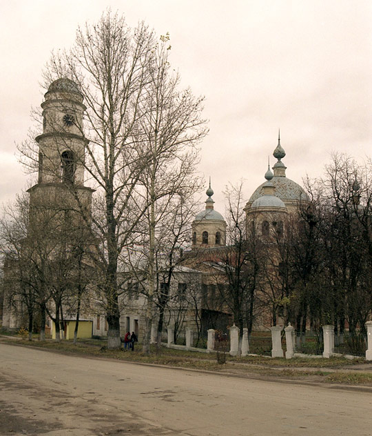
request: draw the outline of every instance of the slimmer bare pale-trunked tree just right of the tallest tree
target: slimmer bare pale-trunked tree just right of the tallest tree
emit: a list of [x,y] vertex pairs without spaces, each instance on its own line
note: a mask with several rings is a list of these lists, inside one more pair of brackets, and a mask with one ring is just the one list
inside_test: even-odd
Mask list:
[[[174,250],[180,244],[180,234],[185,232],[185,217],[180,215],[185,214],[187,201],[200,188],[200,179],[196,177],[196,144],[207,132],[205,120],[200,117],[203,98],[195,98],[189,89],[179,89],[180,77],[170,68],[169,49],[169,36],[161,37],[149,65],[147,95],[138,109],[138,142],[147,157],[137,190],[146,205],[142,228],[148,246],[144,353],[149,353],[158,245],[161,243],[164,248],[164,239],[169,240],[170,277]],[[171,232],[165,237],[164,228],[169,223]]]

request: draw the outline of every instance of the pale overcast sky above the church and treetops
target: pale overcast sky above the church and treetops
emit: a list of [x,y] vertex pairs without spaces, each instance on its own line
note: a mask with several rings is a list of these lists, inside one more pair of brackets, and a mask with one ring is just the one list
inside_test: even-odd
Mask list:
[[[110,6],[130,26],[169,32],[183,86],[205,95],[209,135],[200,172],[215,208],[227,183],[245,197],[265,181],[278,128],[287,177],[318,177],[331,152],[372,156],[372,1],[343,0],[0,0],[0,202],[28,188],[15,143],[43,101],[41,70],[69,48],[77,26]],[[207,186],[206,186],[207,187]],[[204,200],[203,195],[202,199]],[[203,205],[200,206],[203,208]]]

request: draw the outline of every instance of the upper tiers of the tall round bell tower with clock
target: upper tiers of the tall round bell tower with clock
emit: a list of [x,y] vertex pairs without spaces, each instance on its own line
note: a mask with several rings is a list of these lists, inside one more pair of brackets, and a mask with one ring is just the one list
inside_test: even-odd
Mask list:
[[[35,138],[39,144],[39,177],[38,183],[28,190],[30,226],[40,226],[40,210],[45,208],[54,209],[58,216],[62,215],[60,211],[66,215],[68,210],[79,210],[90,221],[94,190],[84,186],[88,141],[83,134],[83,95],[74,81],[57,79],[45,93],[41,108],[43,133]],[[78,216],[73,212],[69,215]]]

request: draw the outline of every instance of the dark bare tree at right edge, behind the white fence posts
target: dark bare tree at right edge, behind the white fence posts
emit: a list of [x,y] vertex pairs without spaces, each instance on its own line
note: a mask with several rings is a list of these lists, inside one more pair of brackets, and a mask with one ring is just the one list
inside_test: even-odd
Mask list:
[[348,321],[350,345],[358,353],[372,308],[370,170],[368,161],[360,166],[334,155],[322,179],[327,282],[333,295],[328,313],[341,336]]

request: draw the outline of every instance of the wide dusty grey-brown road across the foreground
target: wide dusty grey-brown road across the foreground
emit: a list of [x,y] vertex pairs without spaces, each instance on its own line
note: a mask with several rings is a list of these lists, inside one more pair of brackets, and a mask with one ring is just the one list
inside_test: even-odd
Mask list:
[[372,435],[372,393],[0,344],[0,435]]

